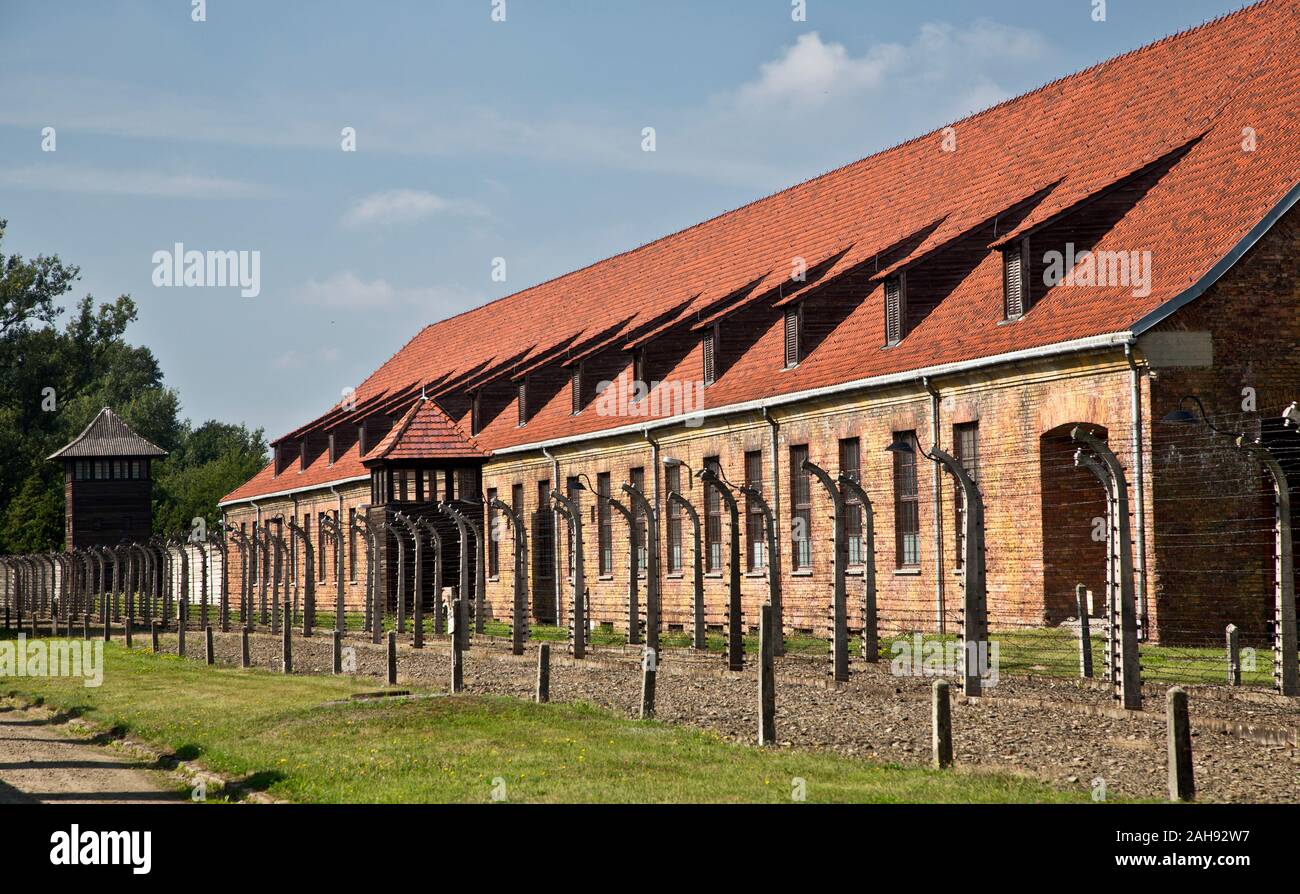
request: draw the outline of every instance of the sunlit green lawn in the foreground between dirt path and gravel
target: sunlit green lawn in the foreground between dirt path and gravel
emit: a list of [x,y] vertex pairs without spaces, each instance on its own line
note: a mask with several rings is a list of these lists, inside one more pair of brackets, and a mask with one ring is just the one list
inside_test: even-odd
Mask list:
[[[488,696],[346,700],[373,682],[208,668],[109,645],[104,685],[0,682],[302,802],[1082,802],[1013,776],[760,750],[584,704]],[[339,699],[344,699],[339,702]]]

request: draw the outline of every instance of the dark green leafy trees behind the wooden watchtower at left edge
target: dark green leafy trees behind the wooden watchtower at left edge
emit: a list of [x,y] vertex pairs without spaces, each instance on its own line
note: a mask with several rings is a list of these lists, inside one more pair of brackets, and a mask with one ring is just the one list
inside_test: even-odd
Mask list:
[[[0,221],[0,240],[4,231]],[[0,552],[62,543],[62,469],[47,457],[104,407],[169,453],[155,465],[160,533],[188,530],[198,516],[216,525],[217,500],[265,464],[260,429],[214,420],[195,429],[181,417],[153,352],[126,340],[130,296],[96,304],[87,295],[60,329],[58,299],[78,278],[57,256],[0,253]]]

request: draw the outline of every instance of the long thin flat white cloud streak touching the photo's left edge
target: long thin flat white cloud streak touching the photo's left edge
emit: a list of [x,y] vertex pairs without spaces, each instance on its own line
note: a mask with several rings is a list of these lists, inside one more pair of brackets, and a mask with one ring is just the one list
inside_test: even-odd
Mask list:
[[108,170],[48,162],[0,169],[0,186],[53,192],[98,192],[157,199],[247,199],[265,190],[246,181],[151,170]]

